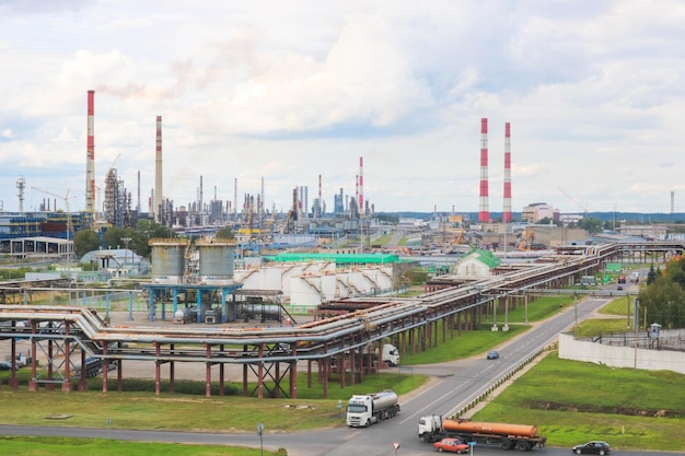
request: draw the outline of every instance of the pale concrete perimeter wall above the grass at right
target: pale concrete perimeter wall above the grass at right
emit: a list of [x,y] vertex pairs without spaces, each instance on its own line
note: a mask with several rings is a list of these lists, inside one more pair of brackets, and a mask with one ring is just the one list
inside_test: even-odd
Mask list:
[[605,346],[576,340],[570,334],[559,335],[559,358],[601,363],[612,367],[637,367],[685,374],[685,352]]

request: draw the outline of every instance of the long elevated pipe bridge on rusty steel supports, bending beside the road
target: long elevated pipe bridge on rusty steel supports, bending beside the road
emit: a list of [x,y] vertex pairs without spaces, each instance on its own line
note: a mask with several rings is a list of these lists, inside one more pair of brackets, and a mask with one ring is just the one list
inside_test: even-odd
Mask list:
[[[0,305],[0,340],[9,341],[10,388],[19,387],[16,343],[27,340],[33,354],[30,390],[39,385],[71,390],[88,389],[88,362],[101,363],[103,393],[115,370],[118,390],[124,370],[132,361],[155,366],[155,394],[161,394],[161,366],[170,365],[170,393],[174,391],[175,363],[195,362],[205,367],[206,395],[212,391],[212,366],[218,366],[219,394],[225,391],[225,370],[242,370],[242,394],[256,397],[297,398],[298,367],[312,378],[345,387],[376,372],[375,351],[387,340],[400,355],[417,353],[445,342],[462,331],[479,327],[495,305],[529,305],[546,290],[562,290],[580,277],[595,274],[611,260],[680,255],[683,243],[601,244],[561,248],[543,262],[502,266],[494,276],[465,279],[451,276],[427,283],[416,297],[359,297],[320,306],[317,319],[294,327],[234,328],[227,326],[131,327],[109,326],[86,307],[57,305]],[[47,362],[38,366],[36,353]],[[313,366],[317,369],[314,371]],[[78,372],[78,375],[74,373]],[[252,373],[252,375],[251,375]],[[256,378],[256,382],[255,382]],[[251,386],[252,385],[252,386]],[[256,385],[256,386],[254,386]],[[252,388],[252,389],[251,389]]]

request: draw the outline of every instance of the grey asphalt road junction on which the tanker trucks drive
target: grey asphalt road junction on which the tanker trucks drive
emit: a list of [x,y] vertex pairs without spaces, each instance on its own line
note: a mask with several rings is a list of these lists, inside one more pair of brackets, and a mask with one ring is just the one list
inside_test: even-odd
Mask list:
[[[604,299],[588,299],[578,305],[569,305],[565,311],[531,330],[499,347],[499,360],[484,358],[467,359],[427,366],[404,366],[403,373],[428,374],[439,378],[430,387],[418,394],[400,398],[402,411],[392,419],[368,429],[339,428],[334,430],[310,431],[306,433],[270,433],[265,430],[263,440],[255,433],[220,434],[186,433],[166,431],[123,431],[116,429],[80,428],[26,428],[0,425],[0,434],[5,435],[59,435],[74,437],[104,437],[113,440],[178,442],[218,445],[263,445],[267,449],[285,447],[290,456],[415,456],[432,453],[432,447],[418,439],[419,417],[426,414],[450,414],[489,388],[506,373],[539,348],[552,343],[557,335],[570,328],[576,321],[590,317],[606,303]],[[592,440],[589,436],[588,440]],[[583,443],[583,442],[579,442]],[[611,442],[609,442],[611,443]],[[399,444],[395,449],[393,444]],[[554,445],[554,442],[550,442]],[[618,443],[616,443],[618,444]],[[474,454],[502,455],[497,447],[476,446]],[[570,448],[547,446],[534,449],[531,454],[568,455]],[[622,455],[642,455],[645,452],[620,452]],[[654,453],[676,455],[682,453]]]

